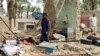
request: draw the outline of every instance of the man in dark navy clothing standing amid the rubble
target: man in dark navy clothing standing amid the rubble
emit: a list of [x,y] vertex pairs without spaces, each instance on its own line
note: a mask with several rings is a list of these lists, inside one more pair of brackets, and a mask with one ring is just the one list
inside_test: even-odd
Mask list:
[[49,42],[49,40],[48,40],[49,21],[47,19],[46,13],[43,13],[41,26],[42,26],[42,30],[41,30],[40,42],[43,42],[43,41]]

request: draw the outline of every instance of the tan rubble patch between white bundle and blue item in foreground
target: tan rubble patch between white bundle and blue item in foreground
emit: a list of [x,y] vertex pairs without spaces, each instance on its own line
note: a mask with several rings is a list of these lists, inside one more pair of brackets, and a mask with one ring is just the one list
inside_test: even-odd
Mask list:
[[39,51],[35,46],[22,44],[20,47],[19,56],[47,56],[46,54],[41,53],[41,50]]

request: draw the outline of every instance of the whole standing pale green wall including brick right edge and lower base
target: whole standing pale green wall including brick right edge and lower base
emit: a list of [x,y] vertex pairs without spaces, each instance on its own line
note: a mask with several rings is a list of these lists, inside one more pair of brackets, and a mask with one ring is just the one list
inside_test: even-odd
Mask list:
[[[63,2],[64,1],[64,5]],[[68,29],[68,37],[75,37],[75,30],[78,29],[79,31],[79,16],[80,15],[80,10],[79,10],[79,0],[59,0],[59,3],[56,6],[56,14],[57,14],[57,19],[56,19],[56,28],[66,28]],[[80,1],[79,1],[80,2]],[[62,5],[62,7],[61,7]],[[62,8],[62,9],[61,9]],[[61,9],[60,13],[59,10]],[[68,24],[64,23],[65,16],[68,18]],[[77,36],[79,34],[76,34]]]

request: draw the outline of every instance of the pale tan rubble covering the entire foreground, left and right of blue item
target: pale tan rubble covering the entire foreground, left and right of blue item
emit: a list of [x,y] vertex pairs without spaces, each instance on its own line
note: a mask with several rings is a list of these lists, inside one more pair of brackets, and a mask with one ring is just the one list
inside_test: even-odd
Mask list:
[[80,42],[52,42],[57,44],[57,49],[52,53],[46,52],[46,47],[39,47],[33,44],[24,45],[22,42],[18,45],[20,47],[19,56],[48,56],[48,55],[100,55],[100,47],[94,45],[85,45]]

